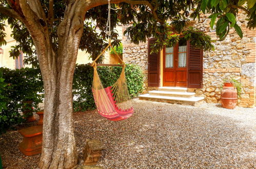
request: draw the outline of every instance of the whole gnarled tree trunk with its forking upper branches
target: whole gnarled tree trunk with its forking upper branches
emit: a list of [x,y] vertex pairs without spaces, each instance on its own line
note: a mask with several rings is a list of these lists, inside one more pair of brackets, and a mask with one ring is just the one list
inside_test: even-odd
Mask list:
[[[112,0],[112,3],[125,1]],[[57,27],[57,48],[53,47],[49,33],[54,20],[53,0],[49,1],[48,16],[40,0],[7,2],[11,9],[1,7],[0,12],[25,24],[33,38],[44,80],[45,113],[40,168],[73,168],[77,165],[78,157],[73,128],[72,83],[84,17],[86,11],[108,4],[108,1],[66,1],[64,17]]]

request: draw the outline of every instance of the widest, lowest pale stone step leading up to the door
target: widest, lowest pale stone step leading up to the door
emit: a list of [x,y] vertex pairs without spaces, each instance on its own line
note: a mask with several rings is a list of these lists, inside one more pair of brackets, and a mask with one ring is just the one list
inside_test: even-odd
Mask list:
[[198,105],[203,100],[204,97],[170,97],[170,96],[156,96],[150,94],[144,94],[139,96],[140,100],[158,101],[158,102],[168,102],[175,104],[187,104],[187,105]]

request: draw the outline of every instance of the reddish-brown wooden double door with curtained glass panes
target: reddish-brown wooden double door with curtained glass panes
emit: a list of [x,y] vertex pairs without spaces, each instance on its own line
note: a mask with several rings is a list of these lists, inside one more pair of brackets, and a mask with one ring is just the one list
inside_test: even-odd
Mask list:
[[174,47],[164,48],[163,86],[187,87],[187,51],[187,41],[183,38]]

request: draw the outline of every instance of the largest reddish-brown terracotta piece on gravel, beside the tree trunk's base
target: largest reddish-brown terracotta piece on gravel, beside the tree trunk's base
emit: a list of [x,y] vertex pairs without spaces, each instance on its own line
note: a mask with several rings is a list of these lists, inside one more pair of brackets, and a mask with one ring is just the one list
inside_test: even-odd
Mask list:
[[23,141],[18,144],[19,150],[26,156],[42,152],[43,125],[35,125],[18,131],[23,135]]

